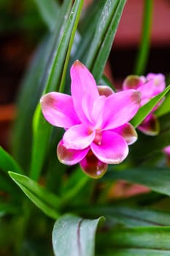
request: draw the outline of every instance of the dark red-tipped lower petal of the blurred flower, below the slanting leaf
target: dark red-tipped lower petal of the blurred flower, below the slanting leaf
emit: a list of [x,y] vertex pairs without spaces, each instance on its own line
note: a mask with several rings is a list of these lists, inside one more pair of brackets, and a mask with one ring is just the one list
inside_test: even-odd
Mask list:
[[140,124],[137,128],[145,135],[158,135],[160,129],[158,118],[151,113],[147,116],[147,118],[144,119],[144,121],[142,121],[142,124]]

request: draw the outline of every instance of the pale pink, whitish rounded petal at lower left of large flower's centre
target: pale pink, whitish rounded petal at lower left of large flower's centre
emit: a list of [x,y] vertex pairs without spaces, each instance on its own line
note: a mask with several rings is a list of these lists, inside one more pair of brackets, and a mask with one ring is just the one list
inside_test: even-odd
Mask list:
[[95,131],[89,131],[84,124],[77,124],[70,127],[63,135],[63,145],[66,148],[84,149],[87,148],[95,138]]

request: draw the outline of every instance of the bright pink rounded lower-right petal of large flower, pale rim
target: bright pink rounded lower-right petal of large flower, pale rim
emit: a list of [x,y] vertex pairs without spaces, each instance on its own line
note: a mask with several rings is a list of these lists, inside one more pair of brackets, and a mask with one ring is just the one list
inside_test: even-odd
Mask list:
[[115,132],[102,132],[101,143],[91,143],[91,150],[96,157],[107,164],[119,164],[128,155],[128,145]]

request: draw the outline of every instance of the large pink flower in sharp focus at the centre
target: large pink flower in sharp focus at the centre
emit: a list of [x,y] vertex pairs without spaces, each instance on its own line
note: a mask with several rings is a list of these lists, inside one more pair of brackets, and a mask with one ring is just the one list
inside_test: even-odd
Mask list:
[[134,89],[114,93],[96,86],[88,69],[75,61],[71,68],[72,96],[50,92],[41,98],[42,113],[65,132],[58,143],[58,159],[66,165],[80,163],[88,176],[101,177],[108,164],[123,162],[128,145],[136,141],[128,123],[139,110],[140,93]]

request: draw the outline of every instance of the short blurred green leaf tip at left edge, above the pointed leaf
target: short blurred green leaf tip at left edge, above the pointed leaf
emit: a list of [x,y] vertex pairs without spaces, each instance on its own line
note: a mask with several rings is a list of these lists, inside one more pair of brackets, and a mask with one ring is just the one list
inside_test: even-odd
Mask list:
[[23,173],[18,163],[15,162],[15,159],[13,159],[12,156],[10,156],[10,154],[7,153],[7,151],[5,151],[4,148],[2,148],[1,146],[0,146],[0,169],[4,170],[5,172],[7,172],[8,170],[12,170],[13,172],[16,172],[16,173]]

